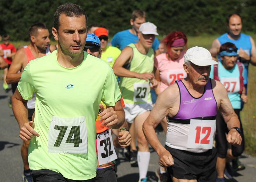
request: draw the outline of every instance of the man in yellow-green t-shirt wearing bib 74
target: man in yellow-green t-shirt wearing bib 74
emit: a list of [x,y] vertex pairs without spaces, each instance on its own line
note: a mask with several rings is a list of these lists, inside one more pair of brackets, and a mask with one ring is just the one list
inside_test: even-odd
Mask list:
[[[37,182],[94,182],[95,120],[99,108],[102,125],[117,129],[124,123],[121,93],[113,70],[105,61],[83,51],[86,24],[87,17],[80,6],[60,5],[52,28],[60,49],[30,61],[12,97],[20,138],[31,140],[28,162]],[[34,92],[33,122],[27,119],[26,102]]]

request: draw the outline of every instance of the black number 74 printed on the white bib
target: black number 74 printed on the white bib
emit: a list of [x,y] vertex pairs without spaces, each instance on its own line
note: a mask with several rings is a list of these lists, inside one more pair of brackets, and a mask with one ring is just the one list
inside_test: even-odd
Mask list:
[[[60,144],[63,140],[63,137],[68,129],[68,126],[54,126],[55,130],[60,130],[60,133],[54,143],[54,147],[60,147]],[[74,135],[74,139],[72,139]],[[66,143],[74,143],[74,147],[79,147],[80,143],[82,143],[82,139],[80,139],[80,126],[72,126],[68,138],[66,140]]]

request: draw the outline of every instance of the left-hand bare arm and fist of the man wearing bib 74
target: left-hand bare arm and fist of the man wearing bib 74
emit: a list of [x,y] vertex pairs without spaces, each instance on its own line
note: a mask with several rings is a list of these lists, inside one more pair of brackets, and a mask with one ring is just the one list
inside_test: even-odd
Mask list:
[[33,121],[28,121],[27,100],[24,100],[18,89],[12,96],[12,110],[20,127],[20,138],[24,141],[31,140],[39,134],[34,130],[35,124]]

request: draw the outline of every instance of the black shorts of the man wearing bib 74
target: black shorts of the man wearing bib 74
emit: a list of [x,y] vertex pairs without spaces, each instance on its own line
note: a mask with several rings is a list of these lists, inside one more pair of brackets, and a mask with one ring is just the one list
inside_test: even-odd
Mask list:
[[31,172],[34,182],[95,182],[95,178],[82,181],[64,178],[62,174],[49,169],[31,170]]

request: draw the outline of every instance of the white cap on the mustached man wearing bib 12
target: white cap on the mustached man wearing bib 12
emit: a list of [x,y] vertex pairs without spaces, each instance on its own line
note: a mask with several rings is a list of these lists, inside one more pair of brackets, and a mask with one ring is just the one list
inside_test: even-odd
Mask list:
[[218,62],[212,59],[211,53],[203,47],[192,47],[187,50],[184,55],[184,62],[196,64],[197,66],[209,66],[212,64],[218,64]]

